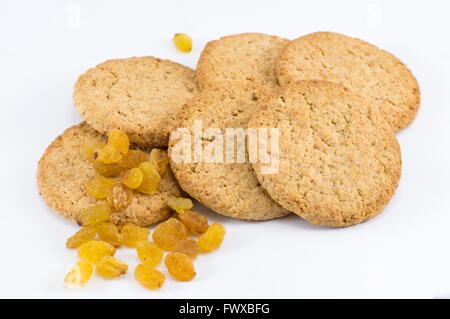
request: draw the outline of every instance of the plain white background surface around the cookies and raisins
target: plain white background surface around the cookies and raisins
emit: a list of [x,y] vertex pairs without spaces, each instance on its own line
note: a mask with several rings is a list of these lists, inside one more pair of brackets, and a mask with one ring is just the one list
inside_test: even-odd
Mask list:
[[[450,297],[449,9],[448,1],[0,0],[0,297]],[[123,249],[125,278],[66,289],[76,252],[64,244],[77,226],[45,206],[35,175],[47,145],[81,121],[71,97],[77,77],[130,56],[194,68],[207,41],[252,31],[341,32],[413,70],[422,105],[398,134],[403,176],[385,212],[345,229],[209,212],[228,234],[219,251],[197,259],[194,281],[148,291],[133,278],[134,252]],[[192,36],[192,53],[174,49],[176,32]]]

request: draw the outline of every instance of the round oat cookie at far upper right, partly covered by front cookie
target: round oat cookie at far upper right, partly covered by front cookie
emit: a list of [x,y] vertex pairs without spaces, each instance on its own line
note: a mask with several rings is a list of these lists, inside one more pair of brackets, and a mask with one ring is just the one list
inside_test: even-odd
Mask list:
[[411,71],[395,56],[359,39],[316,32],[291,41],[276,63],[278,80],[327,80],[375,101],[395,132],[416,117],[420,90]]

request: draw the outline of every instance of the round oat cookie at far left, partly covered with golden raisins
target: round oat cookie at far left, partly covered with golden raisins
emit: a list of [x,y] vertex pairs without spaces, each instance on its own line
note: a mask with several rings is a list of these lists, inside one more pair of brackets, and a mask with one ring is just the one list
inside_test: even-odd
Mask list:
[[[76,221],[85,208],[98,202],[84,190],[86,182],[98,174],[80,148],[102,138],[85,122],[72,126],[48,146],[39,161],[37,180],[42,197],[48,206],[69,220]],[[155,194],[135,193],[123,212],[112,213],[111,221],[140,226],[156,223],[171,214],[167,200],[180,195],[181,190],[169,170]]]

